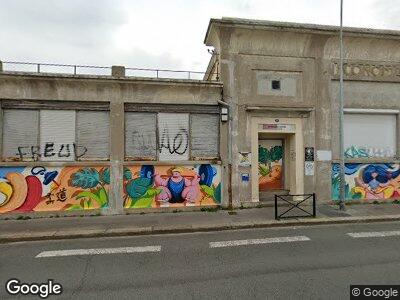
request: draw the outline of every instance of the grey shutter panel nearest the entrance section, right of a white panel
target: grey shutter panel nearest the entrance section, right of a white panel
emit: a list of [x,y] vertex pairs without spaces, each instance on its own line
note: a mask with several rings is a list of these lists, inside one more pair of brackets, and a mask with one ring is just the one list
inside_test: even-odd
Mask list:
[[191,114],[190,141],[192,158],[218,158],[219,116]]

